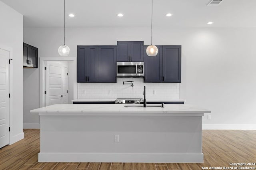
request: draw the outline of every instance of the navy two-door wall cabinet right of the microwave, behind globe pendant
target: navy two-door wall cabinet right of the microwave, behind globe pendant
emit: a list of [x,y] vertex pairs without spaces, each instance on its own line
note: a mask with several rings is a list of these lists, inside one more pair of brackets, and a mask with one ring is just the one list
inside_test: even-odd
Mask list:
[[181,82],[181,45],[157,45],[158,54],[149,57],[144,45],[144,82]]

